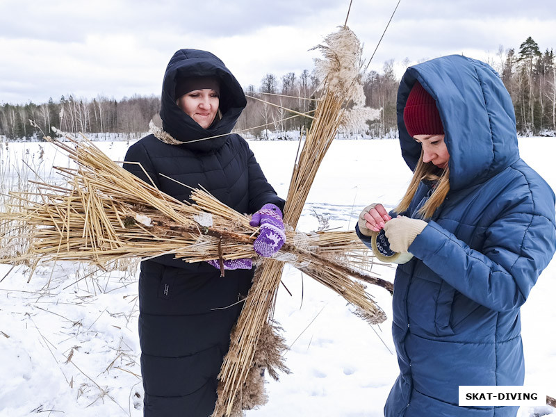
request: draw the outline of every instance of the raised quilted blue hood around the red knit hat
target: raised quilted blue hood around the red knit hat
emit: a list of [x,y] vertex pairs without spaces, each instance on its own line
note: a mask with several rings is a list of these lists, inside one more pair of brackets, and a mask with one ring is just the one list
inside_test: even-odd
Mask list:
[[[409,67],[398,89],[402,156],[414,170],[420,145],[409,136],[403,112],[415,81],[436,100],[450,153],[450,189],[482,183],[519,158],[512,99],[489,65],[460,55]],[[472,149],[472,152],[469,150]]]

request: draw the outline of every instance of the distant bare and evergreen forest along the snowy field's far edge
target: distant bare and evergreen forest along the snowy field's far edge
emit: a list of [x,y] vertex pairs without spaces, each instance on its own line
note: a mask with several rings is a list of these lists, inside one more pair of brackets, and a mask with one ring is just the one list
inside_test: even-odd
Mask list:
[[[519,49],[498,49],[490,57],[489,64],[500,74],[516,111],[517,130],[521,135],[556,135],[556,59],[553,49],[541,52],[537,42],[529,37]],[[406,58],[404,65],[409,60]],[[381,108],[379,120],[368,122],[366,129],[347,134],[365,134],[377,138],[397,135],[395,101],[399,79],[394,72],[394,60],[384,63],[382,72],[370,71],[365,75],[364,91],[366,105]],[[248,96],[295,111],[306,112],[314,106],[314,92],[320,80],[309,70],[301,74],[277,76],[266,74],[261,85],[249,85]],[[289,96],[289,97],[285,97]],[[0,97],[1,99],[1,97]],[[106,137],[137,138],[148,131],[149,120],[158,118],[160,98],[133,95],[117,101],[108,97],[76,99],[60,97],[48,103],[2,104],[0,106],[0,136],[9,140],[42,138],[42,133],[29,120],[34,120],[42,131],[49,135],[51,127],[70,133],[100,133]],[[268,132],[285,133],[298,131],[308,124],[304,117],[288,118],[288,111],[247,99],[236,131],[252,138],[268,138]],[[282,136],[286,138],[286,135]]]

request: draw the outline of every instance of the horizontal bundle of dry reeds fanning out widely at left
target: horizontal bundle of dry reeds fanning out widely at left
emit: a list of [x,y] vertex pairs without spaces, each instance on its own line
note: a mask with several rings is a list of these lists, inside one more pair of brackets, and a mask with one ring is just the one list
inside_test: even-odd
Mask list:
[[[257,229],[246,215],[204,190],[193,190],[194,204],[179,202],[124,170],[86,138],[68,139],[74,146],[49,138],[77,165],[56,168],[65,186],[36,182],[35,193],[10,192],[18,204],[0,213],[0,221],[25,224],[29,247],[9,261],[87,261],[111,268],[125,258],[167,253],[188,262],[256,257]],[[17,231],[3,229],[10,233],[2,238]],[[388,282],[346,261],[345,256],[365,256],[357,236],[340,231],[288,231],[286,236],[279,252],[282,262],[302,268],[370,316],[382,317],[363,286],[350,279],[391,289]]]

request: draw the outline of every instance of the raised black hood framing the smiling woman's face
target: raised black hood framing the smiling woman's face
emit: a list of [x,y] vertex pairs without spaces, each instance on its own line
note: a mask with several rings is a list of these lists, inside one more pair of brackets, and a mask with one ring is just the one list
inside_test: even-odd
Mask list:
[[[214,122],[208,129],[199,126],[176,103],[177,79],[186,76],[216,76],[220,79],[219,108],[222,119]],[[162,84],[160,114],[163,129],[173,138],[184,142],[183,146],[199,152],[218,149],[226,142],[227,136],[197,140],[230,133],[246,104],[241,85],[217,56],[197,49],[180,49],[170,59]]]

